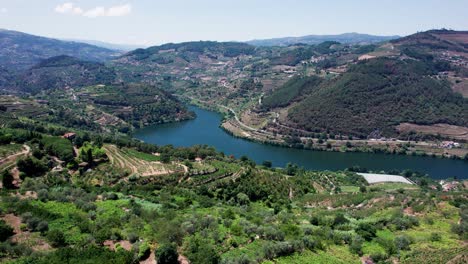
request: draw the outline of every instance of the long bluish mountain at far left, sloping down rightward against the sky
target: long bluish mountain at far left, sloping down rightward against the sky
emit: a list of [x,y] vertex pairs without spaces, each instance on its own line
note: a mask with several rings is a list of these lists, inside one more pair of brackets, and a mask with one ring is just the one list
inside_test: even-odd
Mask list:
[[59,55],[88,61],[106,61],[117,57],[120,53],[85,43],[0,29],[0,66],[10,70],[24,70],[43,59]]

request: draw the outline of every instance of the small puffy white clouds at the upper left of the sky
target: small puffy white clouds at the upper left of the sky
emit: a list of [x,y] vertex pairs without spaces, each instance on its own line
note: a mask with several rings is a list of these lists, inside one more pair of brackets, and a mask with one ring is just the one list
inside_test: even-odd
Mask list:
[[82,15],[85,17],[118,17],[126,16],[132,12],[132,5],[117,5],[105,8],[97,6],[89,10],[84,11],[81,7],[76,6],[74,3],[67,2],[55,7],[55,12],[61,14],[74,14]]

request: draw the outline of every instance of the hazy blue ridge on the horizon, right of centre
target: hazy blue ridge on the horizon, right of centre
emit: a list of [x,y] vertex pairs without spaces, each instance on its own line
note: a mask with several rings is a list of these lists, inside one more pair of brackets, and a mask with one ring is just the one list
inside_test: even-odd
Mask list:
[[360,33],[344,33],[340,35],[308,35],[302,37],[284,37],[272,39],[256,39],[246,43],[255,46],[288,46],[292,44],[319,44],[325,41],[338,41],[343,44],[371,44],[397,39],[399,36],[374,36]]

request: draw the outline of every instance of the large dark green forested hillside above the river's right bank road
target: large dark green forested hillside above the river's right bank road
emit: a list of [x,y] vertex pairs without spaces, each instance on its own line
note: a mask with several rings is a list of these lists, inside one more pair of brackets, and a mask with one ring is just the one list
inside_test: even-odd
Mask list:
[[332,131],[365,137],[375,130],[386,135],[394,126],[468,124],[468,100],[447,81],[429,75],[433,69],[414,60],[375,59],[359,63],[316,87],[292,107],[288,124],[309,131]]

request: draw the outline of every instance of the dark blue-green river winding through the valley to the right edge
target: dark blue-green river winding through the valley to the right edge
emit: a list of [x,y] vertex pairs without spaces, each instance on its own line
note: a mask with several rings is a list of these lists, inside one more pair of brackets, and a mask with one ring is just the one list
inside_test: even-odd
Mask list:
[[468,162],[462,160],[386,155],[370,153],[324,152],[283,148],[235,138],[219,128],[222,116],[216,112],[190,106],[197,118],[190,121],[157,125],[141,129],[135,137],[157,145],[214,146],[227,155],[247,155],[257,163],[264,160],[282,167],[288,162],[313,170],[341,170],[358,165],[371,170],[412,169],[429,174],[432,178],[468,178]]

